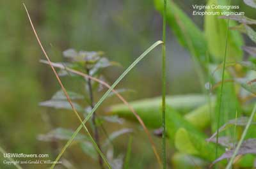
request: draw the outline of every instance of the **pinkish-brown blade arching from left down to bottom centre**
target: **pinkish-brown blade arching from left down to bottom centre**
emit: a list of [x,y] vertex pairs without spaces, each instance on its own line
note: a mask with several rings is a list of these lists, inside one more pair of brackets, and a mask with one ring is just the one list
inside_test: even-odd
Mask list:
[[[49,64],[49,62],[47,61],[40,61],[44,64]],[[105,87],[107,87],[108,89],[111,87],[108,83],[104,82],[103,80],[100,80],[99,78],[95,78],[95,77],[92,77],[90,75],[87,75],[81,71],[77,71],[77,70],[73,70],[71,68],[68,68],[66,66],[63,66],[63,65],[60,65],[60,64],[56,64],[54,62],[52,62],[52,66],[54,66],[55,68],[60,68],[62,70],[66,70],[66,71],[69,71],[70,73],[74,73],[76,75],[80,75],[81,77],[85,77],[85,78],[90,78],[91,80],[95,81],[95,82],[98,82],[99,84],[102,84],[104,85]],[[156,159],[159,163],[159,166],[162,166],[162,162],[161,162],[161,159],[160,159],[160,156],[157,152],[157,149],[156,149],[156,145],[145,125],[145,123],[143,122],[143,120],[141,119],[140,115],[138,115],[138,113],[134,110],[134,108],[125,100],[125,98],[119,94],[117,91],[115,91],[115,89],[112,89],[112,92],[129,108],[129,110],[131,110],[132,114],[134,114],[134,116],[136,117],[136,119],[138,120],[138,122],[140,122],[142,128],[144,129],[145,133],[147,134],[148,136],[148,140],[150,141],[151,143],[151,147],[154,151],[154,154],[156,156]]]

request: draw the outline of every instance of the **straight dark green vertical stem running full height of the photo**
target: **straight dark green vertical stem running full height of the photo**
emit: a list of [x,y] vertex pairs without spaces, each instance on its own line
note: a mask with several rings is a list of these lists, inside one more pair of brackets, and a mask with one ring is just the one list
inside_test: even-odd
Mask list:
[[163,57],[162,57],[162,149],[163,149],[163,169],[166,169],[166,119],[165,119],[165,95],[166,95],[166,0],[164,0],[163,13]]

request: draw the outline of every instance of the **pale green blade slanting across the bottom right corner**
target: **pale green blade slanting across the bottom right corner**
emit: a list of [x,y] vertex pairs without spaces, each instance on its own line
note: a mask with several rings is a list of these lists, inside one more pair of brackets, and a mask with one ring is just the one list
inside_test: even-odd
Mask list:
[[232,157],[230,158],[230,161],[228,162],[228,165],[226,166],[226,169],[230,169],[230,168],[231,168],[231,166],[232,166],[232,164],[233,164],[233,161],[234,161],[234,159],[236,158],[237,152],[239,151],[239,149],[240,149],[240,147],[241,147],[241,145],[242,145],[242,143],[243,143],[243,141],[244,141],[244,138],[245,138],[245,136],[246,136],[246,133],[247,133],[247,131],[248,131],[250,125],[252,124],[252,121],[253,121],[253,117],[254,117],[254,115],[255,115],[255,112],[256,112],[256,105],[255,105],[254,108],[253,108],[253,111],[252,111],[252,114],[251,114],[251,116],[250,116],[250,119],[249,119],[249,121],[247,122],[247,124],[246,124],[246,126],[245,126],[245,128],[244,128],[243,134],[242,134],[242,136],[241,136],[239,142],[237,143],[236,149],[235,149],[234,153],[232,154]]

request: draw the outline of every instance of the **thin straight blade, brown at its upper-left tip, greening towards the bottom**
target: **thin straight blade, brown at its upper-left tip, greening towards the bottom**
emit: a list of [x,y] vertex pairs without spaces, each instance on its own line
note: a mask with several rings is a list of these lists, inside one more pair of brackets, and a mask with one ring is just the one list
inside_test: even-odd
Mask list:
[[95,147],[96,151],[100,154],[100,156],[102,157],[103,161],[106,163],[106,165],[108,166],[108,168],[111,168],[111,166],[110,166],[109,163],[108,163],[108,160],[106,159],[106,157],[104,156],[104,154],[100,151],[100,149],[99,149],[97,143],[93,140],[92,135],[90,134],[90,132],[89,132],[88,129],[86,128],[85,124],[83,123],[83,121],[82,121],[80,115],[79,115],[78,112],[76,111],[76,108],[74,107],[74,105],[73,105],[73,103],[72,103],[70,97],[68,96],[68,93],[67,93],[67,91],[66,91],[64,85],[62,84],[62,82],[61,82],[61,80],[60,80],[60,77],[58,76],[58,73],[56,72],[56,70],[55,70],[54,67],[52,66],[51,60],[49,59],[47,53],[45,52],[44,47],[42,46],[42,43],[40,42],[40,39],[38,38],[38,34],[36,33],[35,27],[33,26],[33,22],[32,22],[32,20],[31,20],[31,18],[30,18],[30,16],[29,16],[28,10],[27,10],[26,5],[25,5],[24,3],[23,3],[23,6],[24,6],[24,8],[25,8],[25,10],[26,10],[26,13],[27,13],[27,15],[28,15],[29,22],[30,22],[30,24],[31,24],[31,27],[32,27],[32,29],[33,29],[33,32],[35,33],[36,40],[38,41],[38,43],[39,43],[39,45],[40,45],[42,51],[44,52],[44,55],[45,55],[47,61],[49,62],[50,66],[51,66],[51,68],[52,68],[52,71],[54,72],[54,75],[56,76],[56,78],[57,78],[57,80],[58,80],[58,82],[59,82],[59,84],[60,84],[60,86],[61,86],[61,89],[63,90],[63,92],[64,92],[64,94],[65,94],[65,96],[66,96],[68,102],[70,103],[70,106],[72,107],[72,110],[75,112],[77,118],[78,118],[79,121],[81,122],[81,125],[83,126],[83,128],[84,128],[85,131],[86,131],[86,133],[88,134],[88,136],[89,136],[89,138],[90,138],[90,141],[93,143],[93,146]]

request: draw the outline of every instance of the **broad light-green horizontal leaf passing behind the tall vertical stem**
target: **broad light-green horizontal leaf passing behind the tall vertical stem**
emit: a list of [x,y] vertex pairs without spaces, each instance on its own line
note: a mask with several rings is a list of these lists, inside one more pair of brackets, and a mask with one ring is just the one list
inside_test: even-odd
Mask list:
[[[204,105],[207,102],[205,97],[202,94],[167,96],[166,105],[185,114],[200,105]],[[134,108],[149,128],[159,128],[161,126],[161,97],[132,101],[129,105]],[[137,121],[131,110],[124,104],[113,105],[108,109],[108,112],[131,121]]]

